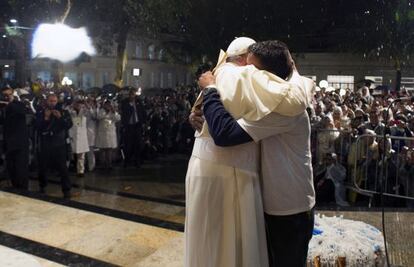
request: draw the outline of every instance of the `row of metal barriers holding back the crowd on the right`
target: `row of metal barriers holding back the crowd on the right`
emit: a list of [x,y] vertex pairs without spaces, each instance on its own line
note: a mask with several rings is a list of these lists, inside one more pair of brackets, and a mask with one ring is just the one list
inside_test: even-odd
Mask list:
[[[378,135],[358,136],[349,130],[312,131],[315,181],[318,184],[321,177],[331,179],[335,191],[335,200],[320,198],[319,203],[349,205],[358,201],[365,205],[368,201],[371,206],[375,201],[377,205],[382,190],[388,198],[387,206],[414,208],[414,138],[388,136],[384,168],[382,139]],[[332,153],[335,159],[329,157]],[[334,168],[332,164],[336,164]],[[316,190],[318,199],[318,192],[322,192],[318,191],[322,190],[319,184]]]

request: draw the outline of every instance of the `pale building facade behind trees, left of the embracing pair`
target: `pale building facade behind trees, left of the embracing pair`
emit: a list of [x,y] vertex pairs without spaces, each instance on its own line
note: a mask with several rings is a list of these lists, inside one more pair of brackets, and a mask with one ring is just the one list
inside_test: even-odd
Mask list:
[[[124,71],[123,85],[147,88],[174,88],[176,85],[193,83],[189,68],[190,59],[186,63],[170,63],[165,59],[165,48],[151,41],[127,41],[127,64]],[[62,77],[68,77],[78,88],[102,87],[113,83],[116,75],[116,46],[109,53],[88,58],[81,63],[73,61],[58,64]],[[13,80],[13,60],[0,60],[0,70],[3,79]],[[34,59],[26,62],[26,73],[32,81],[41,79],[52,80],[52,73],[57,64],[49,59]],[[133,70],[139,69],[139,76],[133,75]]]

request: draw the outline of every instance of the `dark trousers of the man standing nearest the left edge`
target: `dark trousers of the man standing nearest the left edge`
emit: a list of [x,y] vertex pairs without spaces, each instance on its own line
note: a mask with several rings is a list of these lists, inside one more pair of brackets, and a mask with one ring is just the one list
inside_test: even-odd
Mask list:
[[14,149],[6,152],[7,173],[14,188],[28,190],[29,149]]

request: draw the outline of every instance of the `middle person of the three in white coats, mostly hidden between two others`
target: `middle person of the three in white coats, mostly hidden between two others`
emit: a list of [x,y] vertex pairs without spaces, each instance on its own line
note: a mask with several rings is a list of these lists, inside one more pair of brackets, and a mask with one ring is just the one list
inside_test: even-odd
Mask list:
[[95,146],[96,146],[96,131],[98,127],[97,115],[98,110],[96,107],[96,100],[94,98],[88,98],[86,102],[86,128],[88,134],[89,152],[86,153],[86,159],[88,162],[88,171],[93,171],[96,166],[95,160]]

